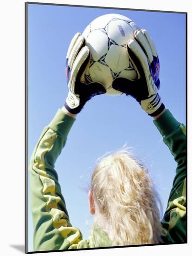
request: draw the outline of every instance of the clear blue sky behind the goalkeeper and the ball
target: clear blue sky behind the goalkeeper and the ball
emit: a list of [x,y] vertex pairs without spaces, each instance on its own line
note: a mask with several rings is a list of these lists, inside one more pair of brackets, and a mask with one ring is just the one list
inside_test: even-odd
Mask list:
[[[125,15],[148,30],[160,58],[161,99],[178,121],[186,123],[185,14],[29,4],[29,159],[42,129],[64,105],[70,40],[107,13]],[[131,97],[96,96],[77,116],[55,166],[70,222],[83,238],[88,238],[93,220],[84,188],[96,160],[126,142],[148,166],[166,209],[176,163],[152,118]],[[32,236],[29,198],[29,251],[33,251]]]

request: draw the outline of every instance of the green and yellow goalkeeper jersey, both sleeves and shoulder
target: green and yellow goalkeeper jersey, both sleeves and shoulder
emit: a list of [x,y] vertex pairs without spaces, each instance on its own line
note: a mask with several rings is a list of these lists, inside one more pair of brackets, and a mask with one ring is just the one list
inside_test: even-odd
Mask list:
[[[58,109],[51,123],[44,128],[34,148],[30,165],[30,193],[33,217],[34,251],[109,247],[106,233],[96,230],[89,239],[83,239],[79,229],[70,223],[55,162],[67,140],[75,119]],[[166,110],[154,121],[178,163],[173,188],[169,195],[162,228],[165,243],[186,243],[186,135],[185,126]]]

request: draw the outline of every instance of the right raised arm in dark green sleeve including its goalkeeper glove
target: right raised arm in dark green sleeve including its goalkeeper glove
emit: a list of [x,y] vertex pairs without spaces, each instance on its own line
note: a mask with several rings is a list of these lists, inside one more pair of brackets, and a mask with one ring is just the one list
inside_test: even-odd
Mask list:
[[164,242],[186,243],[185,126],[179,123],[168,109],[166,110],[161,101],[159,58],[154,42],[145,29],[134,32],[134,39],[128,40],[127,52],[137,71],[138,79],[130,81],[116,78],[112,86],[134,97],[141,108],[154,118],[154,124],[178,164],[166,213],[161,223],[166,234]]

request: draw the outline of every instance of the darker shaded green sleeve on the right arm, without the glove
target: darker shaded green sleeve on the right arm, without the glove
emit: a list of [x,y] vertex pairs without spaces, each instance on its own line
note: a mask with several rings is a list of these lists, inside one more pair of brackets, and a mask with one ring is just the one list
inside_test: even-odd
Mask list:
[[154,120],[154,124],[177,162],[173,187],[161,221],[166,234],[165,241],[186,243],[186,127],[168,109]]

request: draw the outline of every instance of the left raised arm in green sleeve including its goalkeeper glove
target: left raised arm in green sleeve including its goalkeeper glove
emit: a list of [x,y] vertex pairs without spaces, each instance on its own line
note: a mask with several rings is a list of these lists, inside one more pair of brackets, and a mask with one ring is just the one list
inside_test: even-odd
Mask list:
[[62,109],[46,126],[34,148],[30,165],[30,194],[33,218],[33,247],[35,251],[90,247],[79,229],[72,227],[64,197],[58,182],[55,162],[65,146],[67,135],[77,113],[93,96],[105,93],[102,84],[90,87],[80,82],[90,58],[78,33],[72,39],[67,54],[69,93]]

